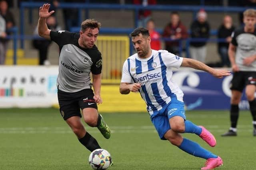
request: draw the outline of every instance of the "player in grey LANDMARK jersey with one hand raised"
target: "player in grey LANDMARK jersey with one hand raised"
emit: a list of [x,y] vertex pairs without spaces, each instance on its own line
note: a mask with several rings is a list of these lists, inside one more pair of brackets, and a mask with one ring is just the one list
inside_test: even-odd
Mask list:
[[[80,33],[53,31],[46,25],[46,18],[54,13],[54,11],[48,12],[49,8],[50,4],[40,7],[38,35],[56,42],[60,47],[57,79],[60,113],[82,145],[90,151],[100,149],[96,139],[85,130],[80,120],[83,115],[84,121],[89,126],[98,127],[106,139],[110,138],[110,128],[98,114],[97,108],[97,104],[102,103],[100,97],[102,57],[94,43],[100,23],[95,20],[85,20],[81,24]],[[92,72],[94,93],[90,86],[90,72]]]

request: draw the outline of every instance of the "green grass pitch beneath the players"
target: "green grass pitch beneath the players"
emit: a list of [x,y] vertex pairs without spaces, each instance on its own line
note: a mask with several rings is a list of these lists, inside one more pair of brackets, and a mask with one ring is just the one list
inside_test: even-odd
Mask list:
[[[112,129],[104,139],[86,129],[112,154],[109,170],[198,170],[205,160],[161,141],[148,113],[102,113]],[[240,111],[237,137],[220,137],[229,128],[229,111],[186,111],[188,120],[204,125],[216,137],[209,147],[194,134],[183,136],[218,154],[222,170],[255,170],[256,137],[249,111]],[[0,109],[0,170],[90,170],[86,150],[58,109]]]

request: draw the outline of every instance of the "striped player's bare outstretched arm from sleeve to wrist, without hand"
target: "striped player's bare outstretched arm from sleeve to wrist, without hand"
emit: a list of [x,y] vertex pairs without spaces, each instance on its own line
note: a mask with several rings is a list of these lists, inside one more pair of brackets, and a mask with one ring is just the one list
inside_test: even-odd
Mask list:
[[203,70],[203,71],[206,71],[209,73],[211,72],[211,70],[213,70],[213,68],[207,66],[206,64],[204,64],[200,61],[197,61],[194,59],[188,59],[188,58],[183,58],[181,66],[191,67],[196,70]]

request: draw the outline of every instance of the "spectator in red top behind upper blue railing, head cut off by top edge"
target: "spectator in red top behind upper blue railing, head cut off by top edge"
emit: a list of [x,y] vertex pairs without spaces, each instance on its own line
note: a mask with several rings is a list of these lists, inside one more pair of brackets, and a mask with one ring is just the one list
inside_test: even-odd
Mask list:
[[[136,5],[156,5],[156,0],[133,0],[133,4]],[[138,27],[146,27],[146,23],[151,19],[150,10],[139,10]]]

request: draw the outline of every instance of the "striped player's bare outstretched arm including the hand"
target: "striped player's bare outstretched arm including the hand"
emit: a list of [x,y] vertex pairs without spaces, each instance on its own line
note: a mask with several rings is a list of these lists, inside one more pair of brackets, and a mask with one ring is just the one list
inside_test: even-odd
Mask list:
[[223,76],[230,75],[230,71],[228,71],[228,70],[217,70],[217,69],[207,66],[206,64],[204,64],[200,61],[193,60],[193,59],[183,58],[181,66],[191,67],[196,70],[203,70],[203,71],[206,71],[206,72],[212,74],[214,77],[217,77],[217,78],[222,78]]

